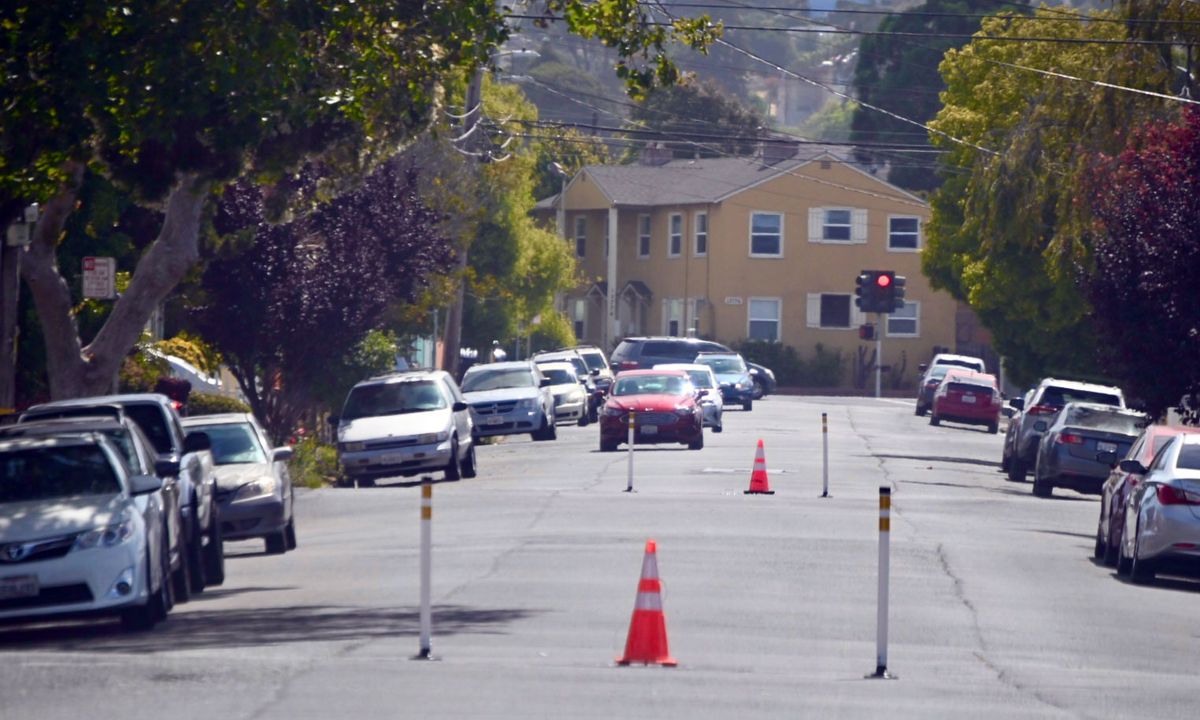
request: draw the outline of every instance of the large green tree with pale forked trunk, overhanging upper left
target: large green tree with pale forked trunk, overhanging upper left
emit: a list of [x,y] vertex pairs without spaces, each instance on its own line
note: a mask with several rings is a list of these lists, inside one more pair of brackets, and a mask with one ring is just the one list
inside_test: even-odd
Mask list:
[[[678,78],[666,56],[673,41],[703,48],[719,31],[704,18],[649,23],[636,0],[542,6],[616,48],[618,77],[635,92]],[[313,157],[366,173],[427,127],[444,84],[486,64],[508,31],[492,0],[5,4],[0,224],[29,202],[46,208],[22,278],[43,326],[50,394],[112,386],[149,314],[198,259],[221,184],[278,179]],[[55,253],[85,167],[163,217],[86,346]]]

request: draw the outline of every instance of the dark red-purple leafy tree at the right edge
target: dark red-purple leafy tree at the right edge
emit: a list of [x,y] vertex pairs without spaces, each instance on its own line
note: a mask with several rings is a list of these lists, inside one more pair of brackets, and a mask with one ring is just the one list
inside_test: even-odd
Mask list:
[[1104,368],[1156,418],[1184,396],[1200,407],[1200,110],[1098,157],[1086,197],[1096,227],[1085,287]]

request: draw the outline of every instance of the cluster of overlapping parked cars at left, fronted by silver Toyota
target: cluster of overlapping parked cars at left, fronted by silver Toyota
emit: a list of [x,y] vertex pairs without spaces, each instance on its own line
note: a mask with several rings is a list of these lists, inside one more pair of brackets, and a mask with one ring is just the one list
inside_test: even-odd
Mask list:
[[0,620],[149,629],[224,582],[226,539],[295,548],[290,455],[252,415],[184,420],[163,395],[29,408],[0,428]]

